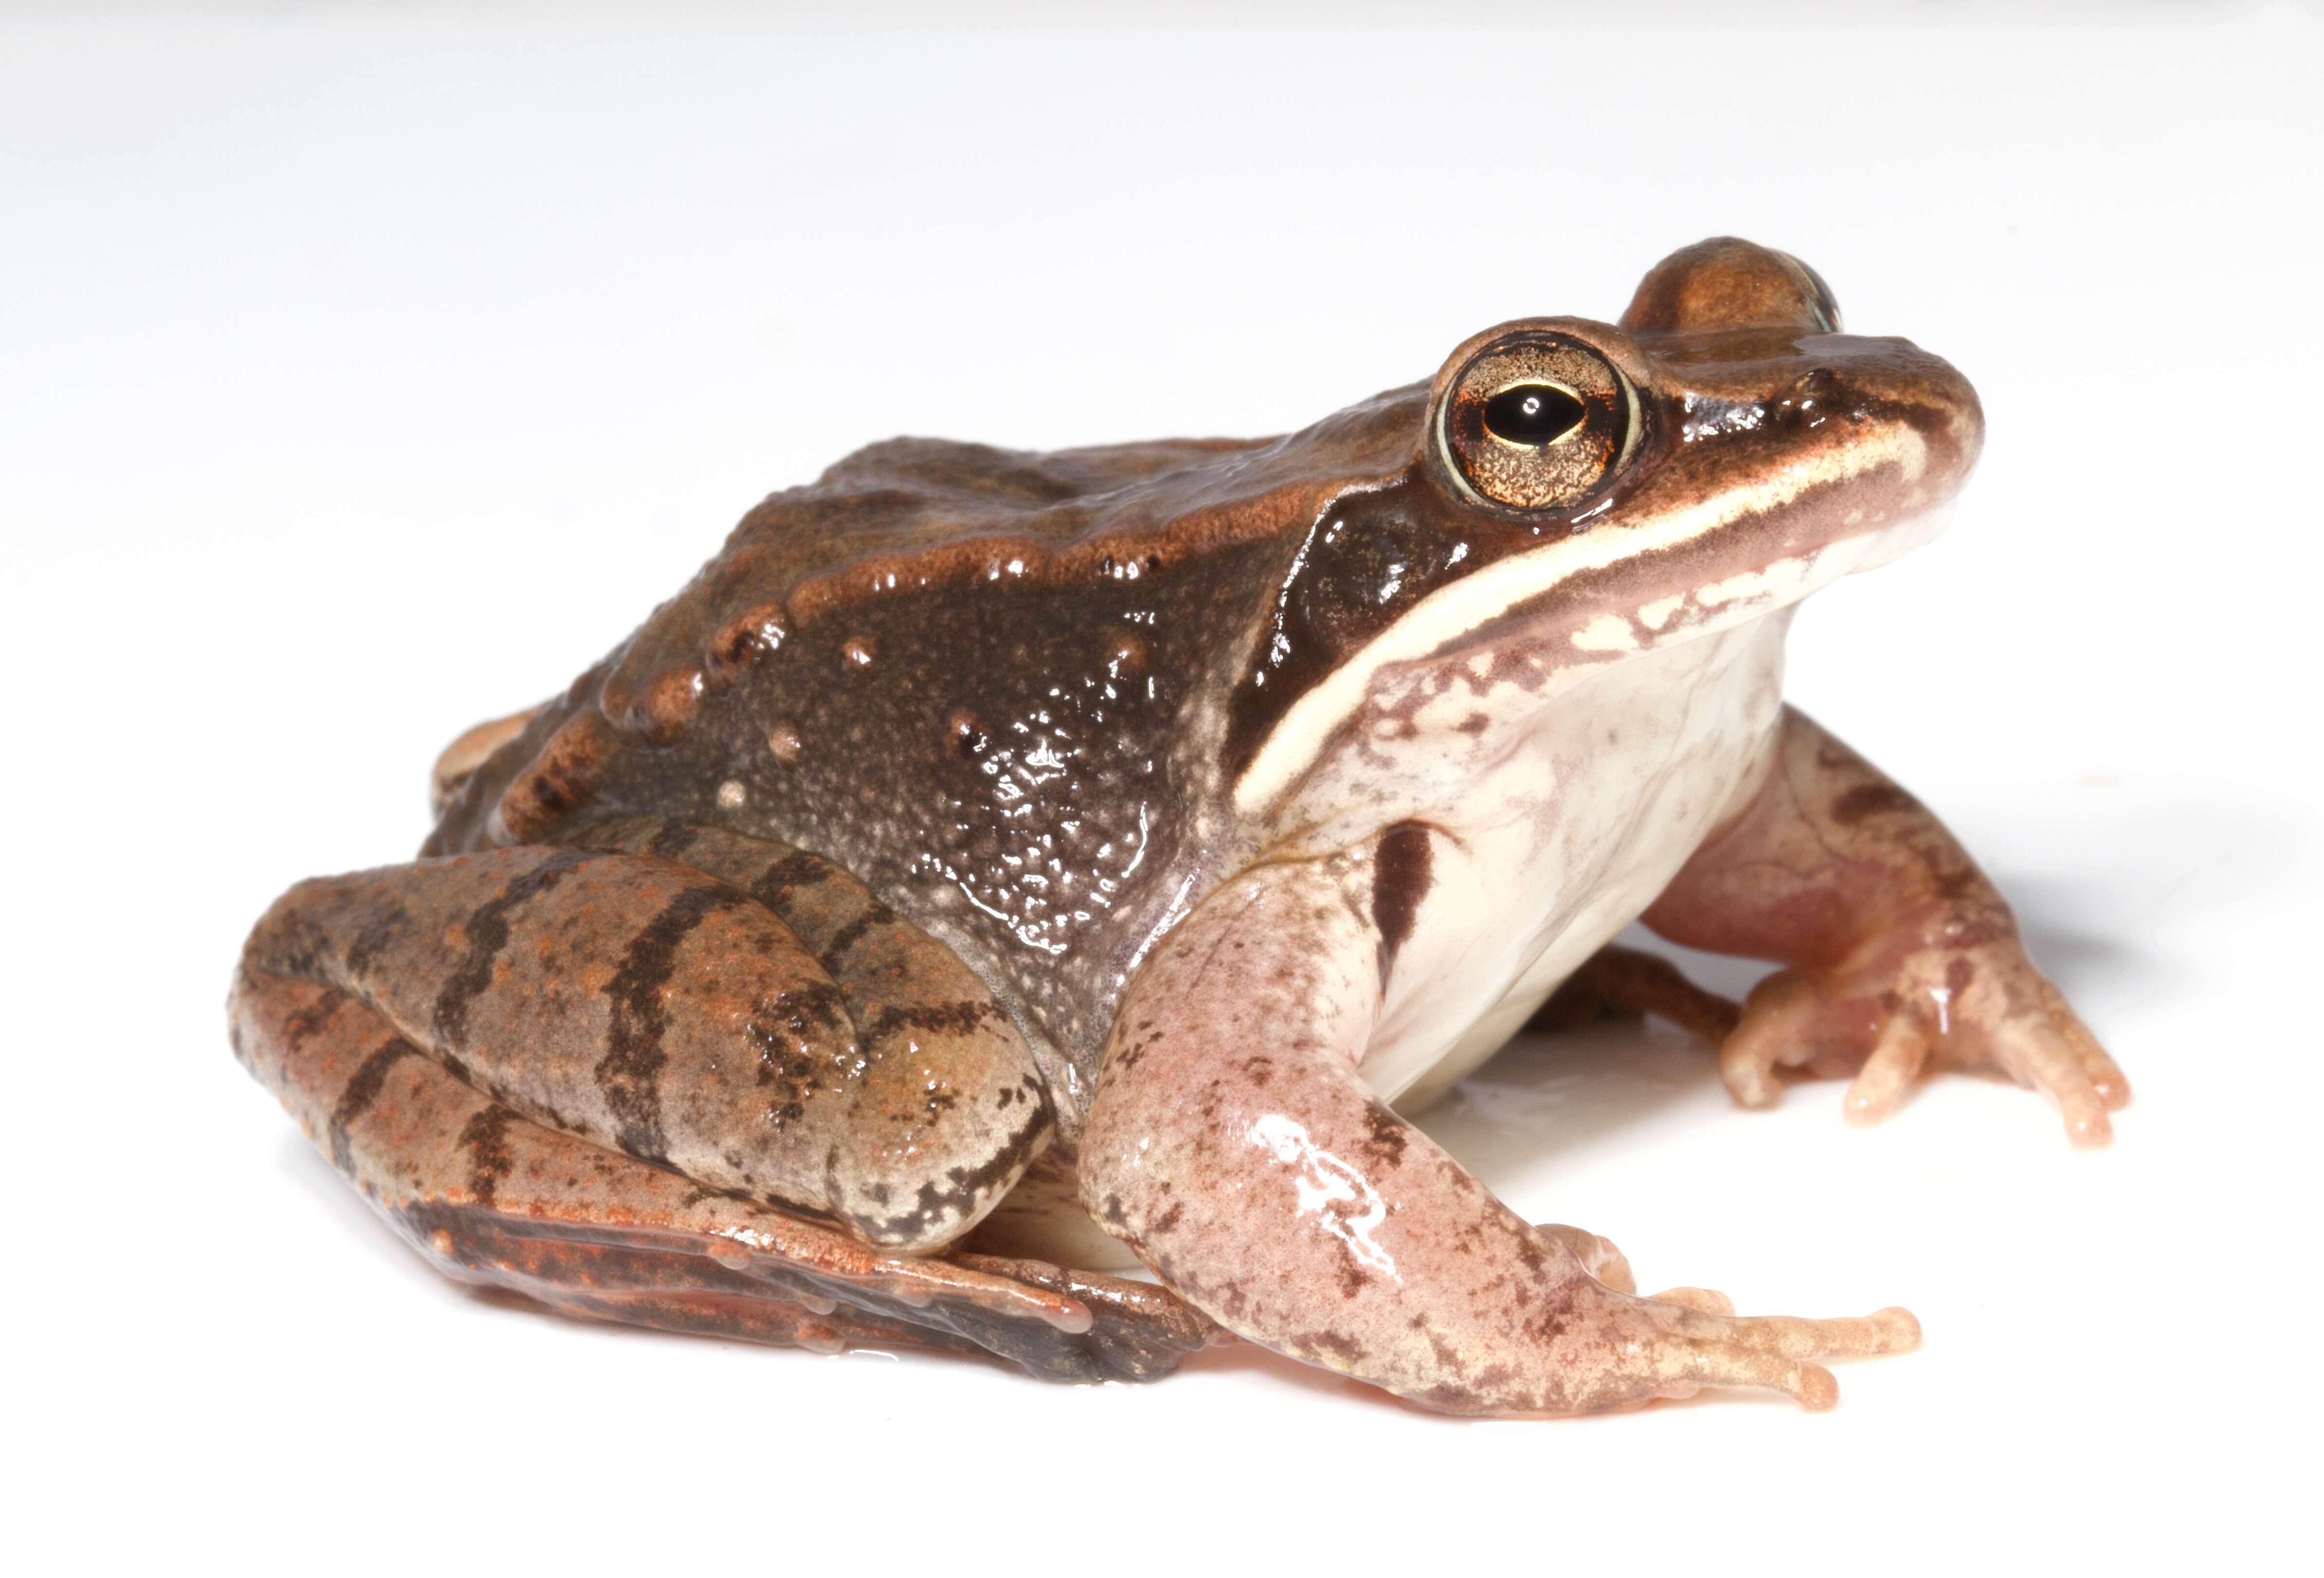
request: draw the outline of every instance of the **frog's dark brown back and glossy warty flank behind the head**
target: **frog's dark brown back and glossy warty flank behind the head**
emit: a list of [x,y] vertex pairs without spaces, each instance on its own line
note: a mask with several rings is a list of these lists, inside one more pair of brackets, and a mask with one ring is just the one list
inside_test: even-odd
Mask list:
[[837,860],[1067,1057],[1227,834],[1225,697],[1397,390],[1285,439],[892,439],[753,509],[451,792],[425,853],[651,813]]

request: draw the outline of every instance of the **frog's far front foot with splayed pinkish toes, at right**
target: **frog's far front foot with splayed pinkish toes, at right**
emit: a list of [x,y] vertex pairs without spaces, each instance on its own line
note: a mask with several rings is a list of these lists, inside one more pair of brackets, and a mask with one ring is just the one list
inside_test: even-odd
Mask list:
[[1878,1122],[1924,1071],[2003,1074],[2047,1095],[2075,1146],[2113,1139],[2131,1083],[2015,934],[1975,944],[1875,941],[1829,969],[1785,969],[1743,1002],[1720,1043],[1720,1078],[1743,1106],[1773,1106],[1778,1069],[1855,1076],[1843,1109]]

